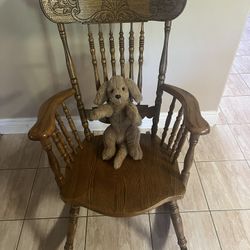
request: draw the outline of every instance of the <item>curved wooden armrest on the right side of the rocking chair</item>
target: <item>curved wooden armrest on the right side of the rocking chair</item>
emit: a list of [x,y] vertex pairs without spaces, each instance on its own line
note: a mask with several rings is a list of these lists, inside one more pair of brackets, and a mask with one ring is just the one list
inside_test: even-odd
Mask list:
[[209,133],[210,126],[201,116],[199,103],[192,94],[168,84],[162,84],[160,90],[171,94],[180,101],[183,106],[185,126],[192,134]]

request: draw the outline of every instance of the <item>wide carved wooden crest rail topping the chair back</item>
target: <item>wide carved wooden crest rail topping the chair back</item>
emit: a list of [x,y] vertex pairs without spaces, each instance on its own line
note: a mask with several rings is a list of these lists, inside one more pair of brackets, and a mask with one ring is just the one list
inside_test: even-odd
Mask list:
[[56,23],[165,21],[183,11],[186,0],[40,0],[44,14]]

